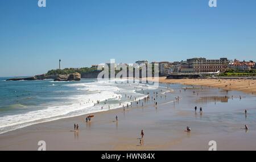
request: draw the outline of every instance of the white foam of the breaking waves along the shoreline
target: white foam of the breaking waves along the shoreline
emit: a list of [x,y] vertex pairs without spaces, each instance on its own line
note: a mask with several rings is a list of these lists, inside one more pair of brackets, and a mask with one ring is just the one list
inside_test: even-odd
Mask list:
[[[53,86],[53,85],[52,85]],[[82,114],[95,113],[110,109],[120,108],[122,105],[127,105],[131,101],[123,101],[121,106],[119,103],[97,105],[97,100],[102,102],[109,99],[119,100],[122,97],[121,94],[117,94],[121,91],[124,93],[131,93],[137,97],[137,100],[141,100],[146,95],[136,93],[133,89],[137,87],[138,90],[143,89],[154,89],[151,86],[145,86],[145,84],[115,84],[115,82],[100,81],[90,83],[74,83],[65,84],[63,86],[77,87],[79,91],[84,91],[85,95],[74,95],[61,97],[67,103],[55,103],[54,105],[38,105],[39,110],[33,110],[27,113],[14,114],[9,116],[0,117],[0,134],[7,131],[19,129],[33,125],[35,123],[47,122],[52,120],[58,120],[60,118],[75,117]],[[121,86],[121,87],[117,87]],[[130,89],[129,89],[130,88]],[[94,104],[96,104],[94,106]],[[101,106],[104,109],[101,109]]]

